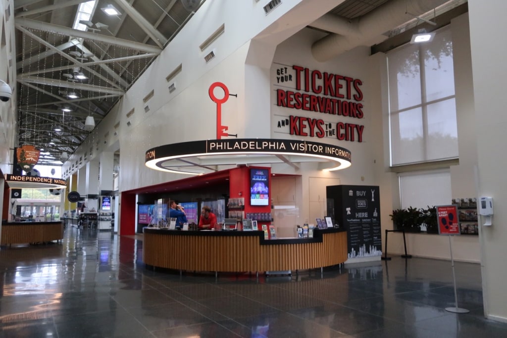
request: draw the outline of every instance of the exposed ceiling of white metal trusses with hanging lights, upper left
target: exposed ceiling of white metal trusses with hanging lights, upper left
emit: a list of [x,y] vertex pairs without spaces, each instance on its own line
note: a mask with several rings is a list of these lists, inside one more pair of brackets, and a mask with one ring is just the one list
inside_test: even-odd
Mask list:
[[[85,119],[97,125],[193,14],[180,0],[97,0],[79,21],[84,3],[14,1],[18,144],[44,149],[41,164],[74,153]],[[108,5],[120,14],[100,10]]]

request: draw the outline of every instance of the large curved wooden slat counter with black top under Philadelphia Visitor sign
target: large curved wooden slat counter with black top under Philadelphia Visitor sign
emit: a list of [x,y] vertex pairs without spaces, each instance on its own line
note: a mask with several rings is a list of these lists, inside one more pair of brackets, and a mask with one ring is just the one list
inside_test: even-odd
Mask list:
[[215,272],[306,270],[343,263],[347,233],[315,230],[311,239],[265,240],[262,231],[176,231],[144,228],[144,264]]

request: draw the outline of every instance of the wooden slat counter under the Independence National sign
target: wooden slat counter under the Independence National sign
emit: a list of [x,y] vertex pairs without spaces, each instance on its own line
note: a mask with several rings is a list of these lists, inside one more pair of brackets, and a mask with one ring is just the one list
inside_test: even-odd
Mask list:
[[2,222],[1,245],[59,241],[63,238],[63,221]]

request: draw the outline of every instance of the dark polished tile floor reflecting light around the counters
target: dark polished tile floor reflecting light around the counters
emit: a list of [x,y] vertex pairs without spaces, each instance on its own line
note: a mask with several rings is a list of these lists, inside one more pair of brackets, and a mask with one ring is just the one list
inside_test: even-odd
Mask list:
[[483,316],[480,267],[387,262],[289,276],[194,275],[142,264],[142,236],[67,228],[0,250],[0,337],[507,337]]

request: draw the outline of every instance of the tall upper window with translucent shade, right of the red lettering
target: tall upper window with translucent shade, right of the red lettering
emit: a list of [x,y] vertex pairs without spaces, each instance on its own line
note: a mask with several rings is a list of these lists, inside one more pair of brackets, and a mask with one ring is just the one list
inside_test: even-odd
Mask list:
[[391,166],[458,157],[451,30],[387,55]]

